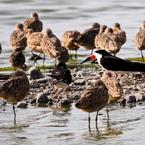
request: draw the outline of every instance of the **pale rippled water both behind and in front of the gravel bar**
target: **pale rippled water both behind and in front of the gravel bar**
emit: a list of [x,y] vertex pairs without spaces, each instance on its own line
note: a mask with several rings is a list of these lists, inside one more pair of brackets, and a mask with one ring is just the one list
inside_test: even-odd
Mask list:
[[[15,24],[23,22],[32,11],[38,11],[44,27],[51,27],[59,38],[65,30],[83,31],[95,21],[109,26],[118,21],[128,38],[118,56],[140,56],[134,48],[134,37],[144,20],[144,0],[0,0],[0,42],[3,46],[0,67],[10,65],[8,40]],[[82,49],[80,53],[88,52]],[[87,113],[73,106],[68,112],[33,106],[17,108],[19,127],[14,128],[12,107],[7,105],[5,111],[0,108],[0,145],[144,145],[144,105],[133,108],[114,106],[110,111],[112,125],[109,131],[106,113],[101,113],[99,135],[95,131],[95,113],[92,114],[90,134]]]

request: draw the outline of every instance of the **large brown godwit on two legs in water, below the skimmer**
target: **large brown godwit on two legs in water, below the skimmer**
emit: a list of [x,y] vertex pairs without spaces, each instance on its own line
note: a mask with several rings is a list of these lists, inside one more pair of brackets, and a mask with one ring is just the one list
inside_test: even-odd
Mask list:
[[[107,106],[108,103],[108,90],[106,85],[102,80],[97,80],[95,86],[91,86],[84,90],[83,94],[81,95],[80,99],[75,103],[75,106],[78,109],[81,109],[85,112],[89,113],[88,116],[88,128],[91,132],[90,126],[90,113],[97,112],[96,114],[96,129],[98,131],[97,120],[98,120],[98,112]],[[109,119],[108,111],[107,116]]]

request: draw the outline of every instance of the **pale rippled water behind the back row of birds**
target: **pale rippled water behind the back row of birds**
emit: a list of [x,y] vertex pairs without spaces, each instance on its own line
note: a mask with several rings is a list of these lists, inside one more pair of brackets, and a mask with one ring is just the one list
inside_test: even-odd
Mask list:
[[[127,42],[119,52],[120,57],[137,57],[140,52],[134,46],[135,34],[144,20],[144,0],[0,0],[0,35],[3,53],[0,55],[0,66],[10,65],[8,58],[12,51],[9,36],[15,24],[23,22],[33,11],[39,12],[44,29],[52,28],[61,38],[66,30],[83,31],[93,22],[112,26],[120,22],[127,33]],[[28,55],[29,49],[26,49]],[[84,49],[80,53],[90,52]],[[27,61],[27,63],[30,63]]]

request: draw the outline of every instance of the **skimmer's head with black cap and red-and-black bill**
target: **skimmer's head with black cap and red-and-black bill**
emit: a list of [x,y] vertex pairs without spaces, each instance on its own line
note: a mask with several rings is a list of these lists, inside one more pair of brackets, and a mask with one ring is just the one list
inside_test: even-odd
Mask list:
[[97,50],[93,54],[88,56],[85,60],[80,62],[80,64],[83,64],[83,63],[88,62],[88,61],[96,62],[97,60],[101,59],[102,56],[110,56],[110,55],[111,54],[105,50]]

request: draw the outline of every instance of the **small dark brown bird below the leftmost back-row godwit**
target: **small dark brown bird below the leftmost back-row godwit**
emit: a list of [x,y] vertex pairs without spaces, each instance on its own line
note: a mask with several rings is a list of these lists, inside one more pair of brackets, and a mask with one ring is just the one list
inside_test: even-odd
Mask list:
[[27,68],[25,64],[25,56],[20,51],[13,51],[10,56],[10,63],[14,68],[21,68],[25,70]]

